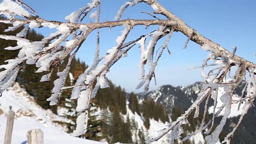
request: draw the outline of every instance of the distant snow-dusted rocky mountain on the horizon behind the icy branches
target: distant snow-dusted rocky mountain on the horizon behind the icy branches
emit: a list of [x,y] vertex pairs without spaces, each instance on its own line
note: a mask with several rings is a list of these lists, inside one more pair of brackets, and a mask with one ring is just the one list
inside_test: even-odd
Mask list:
[[[152,98],[156,102],[160,102],[161,104],[166,106],[166,108],[168,108],[168,110],[170,111],[172,110],[172,108],[177,106],[180,107],[182,110],[186,110],[191,106],[194,100],[196,100],[197,94],[203,89],[204,84],[207,84],[207,81],[195,82],[194,84],[190,84],[188,86],[174,87],[172,85],[163,85],[156,90],[138,93],[137,95],[140,99],[144,99],[145,97]],[[239,86],[234,90],[234,100],[241,96],[241,92],[245,84],[246,82],[242,81],[241,84],[239,84]],[[220,88],[219,94],[222,93],[224,93],[224,90]],[[210,100],[209,103],[211,102],[212,101]],[[234,107],[234,109],[237,110],[237,106],[236,108]]]

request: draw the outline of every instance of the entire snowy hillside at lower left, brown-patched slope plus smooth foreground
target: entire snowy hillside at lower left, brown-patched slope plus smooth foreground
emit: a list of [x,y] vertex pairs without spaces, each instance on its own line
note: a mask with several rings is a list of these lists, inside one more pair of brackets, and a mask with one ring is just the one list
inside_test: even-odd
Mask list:
[[9,106],[15,112],[12,144],[27,144],[26,133],[28,130],[40,128],[44,132],[45,144],[102,144],[92,140],[85,140],[69,136],[62,126],[53,121],[68,122],[68,120],[53,114],[50,110],[44,110],[34,102],[26,91],[16,83],[12,88],[4,91],[0,97],[0,143],[4,141],[6,128],[6,115]]

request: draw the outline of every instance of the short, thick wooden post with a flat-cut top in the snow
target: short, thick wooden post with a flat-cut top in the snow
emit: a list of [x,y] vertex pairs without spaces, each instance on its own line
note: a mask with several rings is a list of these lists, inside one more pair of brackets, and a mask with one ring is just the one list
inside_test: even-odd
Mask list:
[[29,130],[27,137],[28,144],[44,144],[44,133],[40,128]]

